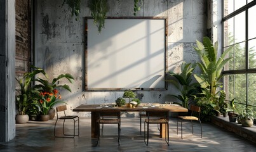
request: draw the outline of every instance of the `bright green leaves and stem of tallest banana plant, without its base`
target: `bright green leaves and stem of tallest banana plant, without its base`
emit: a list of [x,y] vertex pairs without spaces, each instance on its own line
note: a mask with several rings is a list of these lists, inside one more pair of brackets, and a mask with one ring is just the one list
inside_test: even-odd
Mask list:
[[212,94],[211,98],[217,95],[217,88],[222,87],[220,79],[222,79],[222,69],[224,65],[232,58],[225,58],[227,53],[231,49],[227,49],[218,58],[218,42],[215,42],[214,46],[209,37],[203,37],[203,43],[196,41],[197,47],[194,47],[196,52],[201,59],[199,62],[199,68],[201,69],[201,74],[194,74],[195,79],[199,82],[202,88],[207,88]]

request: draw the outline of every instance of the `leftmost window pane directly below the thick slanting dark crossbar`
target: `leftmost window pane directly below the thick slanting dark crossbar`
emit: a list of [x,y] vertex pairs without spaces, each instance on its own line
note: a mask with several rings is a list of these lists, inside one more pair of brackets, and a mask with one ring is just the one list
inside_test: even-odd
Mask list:
[[224,22],[224,46],[234,44],[234,18]]

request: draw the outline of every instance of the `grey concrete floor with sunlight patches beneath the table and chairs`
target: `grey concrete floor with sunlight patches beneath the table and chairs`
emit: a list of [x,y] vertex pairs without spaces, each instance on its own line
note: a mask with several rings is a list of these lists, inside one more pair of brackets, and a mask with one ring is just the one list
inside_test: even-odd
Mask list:
[[[56,118],[55,118],[56,119]],[[55,119],[48,122],[30,121],[27,124],[16,125],[16,137],[8,143],[0,143],[0,152],[13,151],[256,151],[256,144],[246,141],[232,132],[203,124],[203,138],[200,138],[199,124],[194,125],[194,135],[191,134],[191,124],[184,123],[184,139],[177,135],[177,122],[170,120],[170,146],[164,139],[157,137],[158,129],[152,125],[149,146],[140,136],[138,118],[121,118],[121,146],[116,137],[101,137],[98,146],[96,139],[91,139],[90,118],[80,118],[80,135],[74,139],[55,138],[53,129]],[[58,125],[61,127],[61,125]],[[72,125],[70,125],[72,127]],[[59,128],[60,129],[60,128]],[[72,129],[69,129],[71,131]],[[58,132],[59,133],[59,132]],[[117,135],[116,125],[105,125],[104,136]]]

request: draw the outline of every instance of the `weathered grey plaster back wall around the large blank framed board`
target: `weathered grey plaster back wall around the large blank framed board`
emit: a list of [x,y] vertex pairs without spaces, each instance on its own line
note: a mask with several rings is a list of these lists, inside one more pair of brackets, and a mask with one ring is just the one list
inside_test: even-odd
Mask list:
[[[72,92],[62,91],[62,98],[72,108],[81,104],[112,103],[123,96],[123,91],[84,91],[84,20],[90,16],[82,1],[78,21],[71,16],[62,0],[36,1],[36,66],[44,68],[50,79],[60,73],[71,73],[75,80]],[[109,0],[107,16],[133,16],[133,1]],[[180,71],[182,61],[198,61],[192,49],[196,39],[206,35],[206,2],[204,0],[144,0],[137,16],[168,16],[168,69]],[[104,30],[104,29],[103,29]],[[100,73],[99,73],[100,74]],[[66,81],[65,81],[66,82]],[[63,83],[63,82],[60,82]],[[172,86],[168,91],[137,91],[143,94],[142,102],[164,102],[175,93]],[[159,95],[161,98],[159,99]],[[89,116],[90,113],[79,113]]]

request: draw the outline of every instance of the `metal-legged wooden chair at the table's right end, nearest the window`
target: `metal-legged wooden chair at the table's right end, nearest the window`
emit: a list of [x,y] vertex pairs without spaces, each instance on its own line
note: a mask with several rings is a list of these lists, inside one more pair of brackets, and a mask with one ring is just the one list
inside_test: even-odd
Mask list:
[[[194,129],[193,129],[193,120],[196,120],[199,122],[200,126],[201,126],[201,138],[203,137],[203,131],[202,131],[202,124],[201,124],[201,120],[200,120],[200,112],[201,112],[201,108],[199,106],[194,106],[191,105],[189,110],[191,111],[191,115],[190,116],[178,116],[177,118],[177,134],[178,134],[178,123],[180,120],[180,124],[181,124],[181,139],[183,139],[183,135],[182,135],[182,120],[191,120],[191,125],[192,125],[192,134],[194,134]],[[198,113],[198,117],[193,116],[194,113]]]

